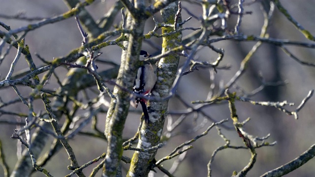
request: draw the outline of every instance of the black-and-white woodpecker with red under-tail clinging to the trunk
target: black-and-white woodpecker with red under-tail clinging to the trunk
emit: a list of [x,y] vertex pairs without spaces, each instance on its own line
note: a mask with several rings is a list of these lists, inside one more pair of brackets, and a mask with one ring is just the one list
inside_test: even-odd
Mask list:
[[[150,54],[146,51],[140,52],[139,60],[143,61],[150,57]],[[153,89],[154,85],[157,82],[157,75],[154,73],[153,67],[150,62],[144,61],[144,64],[140,66],[137,70],[136,79],[134,81],[133,92],[147,95],[150,94],[151,90]],[[135,98],[135,108],[137,108],[138,103],[141,104],[142,111],[144,114],[144,120],[146,123],[149,122],[149,114],[148,108],[146,105],[147,100],[143,98],[136,97]]]

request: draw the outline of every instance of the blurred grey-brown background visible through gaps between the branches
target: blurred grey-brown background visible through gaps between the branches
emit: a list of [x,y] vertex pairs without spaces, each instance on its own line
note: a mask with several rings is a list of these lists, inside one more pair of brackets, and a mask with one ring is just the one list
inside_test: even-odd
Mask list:
[[[245,0],[245,2],[252,2],[251,0]],[[284,7],[289,13],[299,22],[305,29],[309,30],[315,35],[315,18],[314,6],[315,0],[282,0]],[[114,0],[95,0],[95,2],[86,7],[95,20],[101,18],[108,12]],[[194,3],[188,3],[183,1],[183,6],[189,8],[190,12],[196,16],[201,15],[202,8]],[[16,15],[19,12],[24,12],[26,17],[53,17],[55,15],[62,14],[68,9],[64,5],[62,0],[0,0],[0,14]],[[240,31],[247,35],[259,35],[261,27],[263,25],[263,15],[260,10],[260,3],[253,3],[250,6],[245,6],[245,11],[252,11],[251,15],[245,15]],[[159,22],[159,13],[156,14]],[[189,15],[183,11],[183,19],[187,19]],[[234,21],[236,16],[232,16]],[[119,24],[121,21],[121,15],[118,14],[116,21],[113,25]],[[11,27],[11,29],[17,29],[27,26],[28,24],[36,23],[36,21],[23,21],[0,18],[0,22]],[[233,20],[232,20],[233,22]],[[228,28],[233,29],[234,23],[229,24]],[[197,28],[200,24],[196,19],[190,20],[184,25],[184,27]],[[154,21],[152,18],[147,20],[145,33],[154,28]],[[113,29],[113,28],[112,28]],[[2,31],[5,31],[1,28]],[[158,31],[160,32],[160,30]],[[191,30],[183,32],[185,37]],[[279,39],[289,39],[292,41],[310,42],[288,22],[282,13],[276,8],[274,16],[271,20],[271,27],[268,29],[270,37]],[[215,38],[217,36],[213,36]],[[70,18],[55,24],[46,25],[42,28],[30,31],[26,38],[26,44],[29,46],[32,57],[36,66],[44,65],[41,60],[37,59],[34,53],[38,53],[46,60],[52,60],[54,57],[61,57],[68,54],[72,49],[81,46],[82,37],[77,29],[74,18]],[[151,38],[150,42],[161,45],[161,39]],[[251,50],[255,42],[237,42],[237,41],[221,41],[214,44],[217,48],[223,48],[225,51],[224,58],[221,62],[221,66],[230,65],[229,70],[218,70],[215,74],[215,91],[219,89],[219,83],[226,84],[240,67],[240,62]],[[143,50],[148,51],[150,54],[158,53],[158,48],[143,43]],[[287,48],[303,61],[315,63],[315,50],[305,49],[295,46],[287,46]],[[3,52],[3,51],[2,51]],[[121,48],[118,46],[108,46],[103,48],[100,52],[103,54],[101,59],[107,61],[113,61],[117,64],[120,63]],[[2,61],[0,65],[0,78],[4,79],[6,76],[10,64],[16,55],[16,49],[12,48],[9,55]],[[215,61],[218,57],[216,53],[208,48],[203,48],[197,53],[199,60]],[[180,65],[185,61],[181,59]],[[99,64],[98,70],[104,70],[109,66],[102,66]],[[27,63],[23,56],[21,56],[15,71],[27,69]],[[66,77],[66,67],[57,68],[60,80]],[[249,69],[236,83],[247,92],[251,92],[253,89],[258,88],[261,82],[258,77],[258,73],[261,72],[266,82],[278,82],[287,81],[285,86],[267,87],[254,95],[251,99],[256,101],[284,101],[294,102],[292,107],[286,107],[290,111],[294,111],[300,104],[303,98],[308,94],[311,89],[315,88],[315,68],[310,66],[301,65],[295,60],[289,58],[284,52],[273,45],[262,44],[257,52],[252,56]],[[42,75],[40,75],[42,76]],[[210,70],[209,68],[199,68],[198,71],[194,71],[183,77],[181,80],[177,93],[186,102],[196,100],[206,100],[210,90]],[[51,79],[46,87],[50,89],[58,89],[56,79]],[[27,87],[18,87],[24,96],[28,96],[31,89]],[[111,86],[112,88],[112,86]],[[96,90],[96,87],[94,87]],[[236,89],[232,89],[235,91]],[[90,98],[97,96],[93,91],[89,91]],[[16,93],[11,88],[1,88],[0,97],[3,102],[17,98]],[[108,99],[109,100],[109,99]],[[35,101],[35,112],[43,109],[41,101]],[[299,119],[294,119],[293,116],[288,116],[276,108],[254,106],[250,103],[237,102],[236,103],[237,114],[240,121],[246,118],[251,120],[245,125],[245,129],[254,136],[262,137],[267,134],[271,134],[267,142],[272,143],[277,141],[277,145],[274,147],[263,147],[256,149],[257,161],[253,169],[248,174],[248,177],[258,177],[265,172],[277,168],[298,155],[307,150],[315,143],[315,98],[312,97],[304,108],[299,112]],[[177,98],[172,98],[169,101],[169,112],[175,112],[178,110],[185,110],[186,107],[180,103]],[[15,112],[28,112],[28,108],[21,104],[15,104],[13,106],[6,107],[5,110],[14,110]],[[131,109],[133,110],[133,109]],[[229,118],[230,113],[227,104],[213,105],[203,109],[205,113],[211,116],[211,118],[220,121],[225,118]],[[130,112],[128,115],[124,134],[126,138],[130,138],[133,135],[139,124],[139,112]],[[99,123],[97,127],[100,130],[104,130],[106,114],[98,116]],[[180,115],[172,115],[176,120]],[[175,138],[168,141],[164,148],[158,150],[156,159],[168,155],[174,148],[180,144],[194,138],[198,134],[204,132],[208,126],[211,125],[209,120],[203,128],[194,133],[185,133],[187,130],[192,130],[196,125],[199,125],[203,121],[203,117],[199,115],[196,125],[193,125],[194,115],[189,115],[183,124],[181,124],[175,132],[184,132],[177,135]],[[25,120],[17,118],[15,116],[1,116],[0,119],[5,120],[17,120],[24,122]],[[63,120],[62,120],[63,121]],[[167,122],[165,122],[166,124]],[[225,123],[228,127],[233,127],[232,121]],[[13,129],[19,129],[16,125],[12,124],[0,124],[0,139],[3,143],[3,149],[6,156],[8,165],[10,166],[10,172],[17,162],[17,153],[21,145],[17,146],[17,141],[10,138],[13,134]],[[87,127],[86,129],[89,129]],[[165,128],[166,130],[166,128]],[[237,133],[232,130],[221,128],[222,133],[231,140],[231,145],[243,146],[243,141],[238,137]],[[53,138],[51,138],[53,140]],[[205,177],[207,175],[207,164],[211,158],[212,152],[224,145],[225,142],[218,136],[217,130],[212,129],[207,136],[202,137],[198,141],[192,144],[194,148],[187,152],[185,160],[179,165],[178,170],[174,174],[177,177]],[[106,147],[106,142],[90,138],[86,136],[76,136],[70,141],[79,164],[82,165],[98,156],[100,156]],[[22,147],[24,148],[24,147]],[[46,149],[49,148],[47,145]],[[131,157],[133,151],[125,151],[124,155]],[[213,164],[213,177],[227,177],[231,176],[233,171],[242,170],[249,162],[250,153],[245,149],[225,149],[220,151]],[[174,160],[163,162],[163,167],[169,169]],[[70,173],[66,166],[70,164],[67,160],[67,155],[62,149],[52,160],[45,166],[45,168],[51,172],[55,177],[62,177]],[[96,165],[91,165],[83,172],[85,174],[91,173],[92,169]],[[311,177],[315,175],[315,159],[310,160],[308,163],[300,167],[299,169],[291,172],[285,177]],[[128,169],[127,164],[123,164],[123,169]],[[123,172],[126,174],[126,171]],[[3,175],[3,170],[0,168],[0,177]],[[35,172],[32,177],[42,177],[43,174]],[[155,174],[156,177],[162,177],[160,171]]]

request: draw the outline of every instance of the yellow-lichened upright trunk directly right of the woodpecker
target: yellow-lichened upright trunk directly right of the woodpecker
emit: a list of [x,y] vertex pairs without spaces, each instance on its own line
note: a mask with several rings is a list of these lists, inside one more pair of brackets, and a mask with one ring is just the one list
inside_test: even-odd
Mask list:
[[[178,2],[173,2],[166,8],[161,10],[161,15],[164,24],[174,24],[175,14],[177,12]],[[179,22],[181,19],[179,19]],[[162,28],[162,33],[174,31],[173,28]],[[174,42],[177,41],[177,42]],[[169,49],[176,47],[182,41],[182,33],[177,32],[173,35],[163,37],[162,53]],[[158,81],[155,89],[152,91],[155,97],[163,98],[169,94],[169,90],[173,85],[176,77],[177,67],[179,62],[178,55],[170,55],[160,59],[158,62]],[[168,100],[163,102],[148,102],[148,111],[150,122],[143,124],[140,134],[139,143],[137,148],[146,149],[157,146],[162,134],[165,117],[167,116]],[[133,154],[129,172],[127,177],[146,177],[154,165],[154,159],[157,150],[150,152],[135,151]]]

